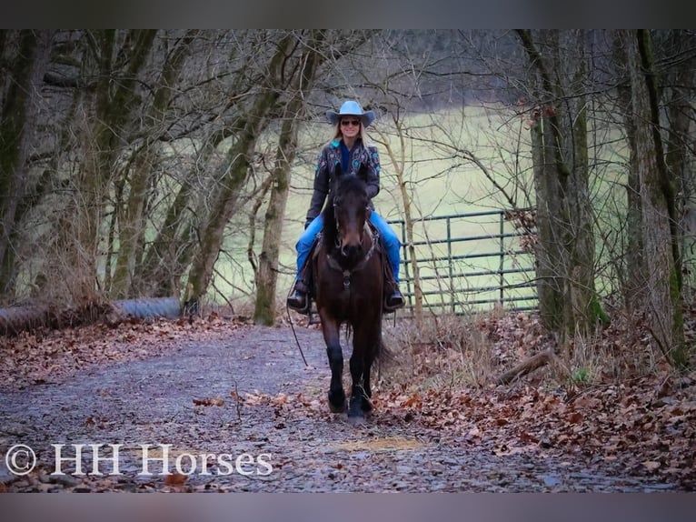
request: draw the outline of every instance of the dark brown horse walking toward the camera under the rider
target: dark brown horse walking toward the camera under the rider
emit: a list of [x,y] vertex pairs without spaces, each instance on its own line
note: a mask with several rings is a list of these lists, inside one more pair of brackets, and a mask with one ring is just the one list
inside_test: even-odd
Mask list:
[[353,332],[351,389],[348,417],[364,417],[372,411],[370,370],[385,355],[382,341],[383,255],[376,232],[368,226],[370,200],[363,178],[341,176],[336,166],[333,186],[323,209],[323,238],[313,256],[316,306],[331,367],[329,407],[333,413],[346,408],[343,391],[343,350],[340,328]]

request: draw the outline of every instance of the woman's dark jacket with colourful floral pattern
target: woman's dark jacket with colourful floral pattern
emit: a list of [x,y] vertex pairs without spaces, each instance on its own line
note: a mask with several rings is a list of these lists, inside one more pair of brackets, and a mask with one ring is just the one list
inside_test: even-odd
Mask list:
[[[364,146],[363,140],[358,138],[353,146],[350,156],[350,167],[347,173],[357,174],[360,166],[367,167],[367,196],[370,197],[370,205],[374,196],[380,192],[380,155],[376,146]],[[336,165],[341,165],[341,140],[336,138],[329,145],[324,146],[319,154],[316,171],[314,173],[314,192],[312,202],[307,211],[306,228],[316,216],[322,212],[322,207],[329,194]],[[374,206],[373,206],[374,208]]]

